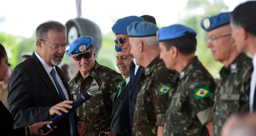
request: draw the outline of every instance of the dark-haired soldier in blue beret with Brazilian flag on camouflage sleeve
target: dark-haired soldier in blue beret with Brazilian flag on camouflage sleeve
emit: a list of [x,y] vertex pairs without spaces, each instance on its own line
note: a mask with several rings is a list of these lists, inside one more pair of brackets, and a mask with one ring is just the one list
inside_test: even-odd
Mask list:
[[[169,93],[164,136],[207,136],[216,83],[195,56],[197,32],[175,24],[158,31],[160,58],[176,70]],[[206,126],[206,127],[205,127]]]

